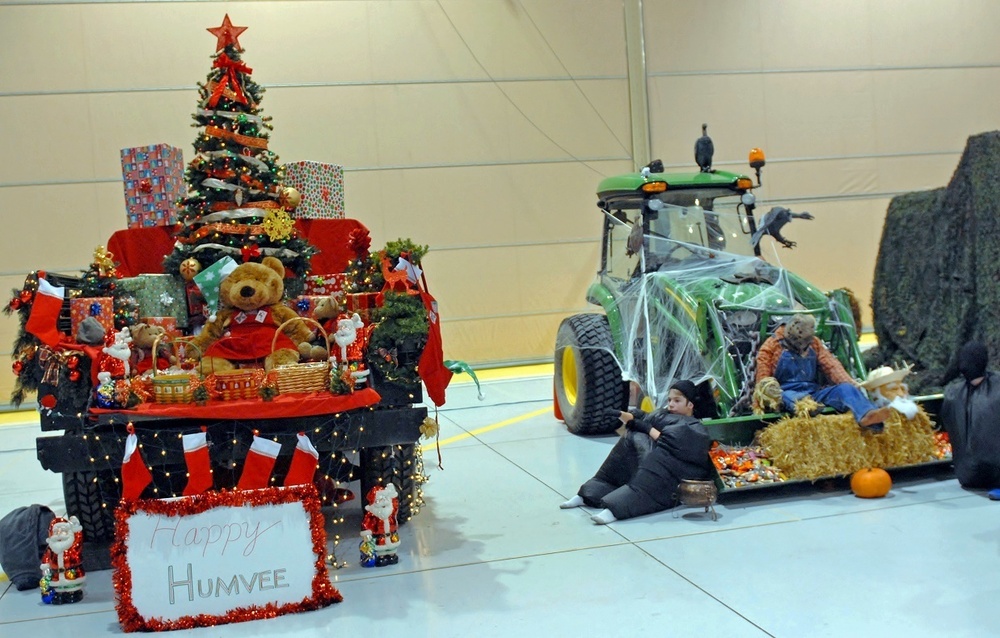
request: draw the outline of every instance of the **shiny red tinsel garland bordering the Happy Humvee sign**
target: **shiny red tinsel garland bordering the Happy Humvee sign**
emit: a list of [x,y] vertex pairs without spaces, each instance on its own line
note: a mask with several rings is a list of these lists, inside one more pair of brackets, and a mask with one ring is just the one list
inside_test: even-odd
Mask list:
[[[284,504],[301,502],[309,514],[309,528],[312,531],[313,553],[316,555],[316,574],[313,576],[312,598],[304,598],[302,602],[277,605],[269,603],[264,606],[252,605],[231,609],[225,614],[213,616],[198,614],[184,616],[177,620],[165,621],[157,618],[143,618],[132,603],[132,570],[125,560],[127,542],[129,539],[128,519],[137,512],[147,512],[160,516],[187,516],[200,514],[215,507],[243,507],[246,505],[260,506],[266,504]],[[294,487],[269,487],[260,490],[234,490],[210,492],[198,496],[186,497],[176,501],[136,500],[122,501],[115,510],[115,542],[111,546],[111,564],[114,574],[111,577],[115,588],[118,611],[118,622],[126,632],[131,631],[165,631],[172,629],[189,629],[191,627],[210,627],[232,622],[274,618],[283,614],[300,611],[311,611],[341,602],[344,597],[330,583],[326,571],[326,527],[323,512],[320,510],[319,495],[316,486],[312,484],[296,485]]]

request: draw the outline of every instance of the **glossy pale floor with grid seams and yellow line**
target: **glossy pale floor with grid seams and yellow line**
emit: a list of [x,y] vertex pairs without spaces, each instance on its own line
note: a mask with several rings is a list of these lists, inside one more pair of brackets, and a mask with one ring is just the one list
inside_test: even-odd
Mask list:
[[[549,369],[550,370],[550,369]],[[187,630],[197,636],[969,636],[1000,635],[1000,504],[947,467],[901,473],[883,499],[843,482],[723,495],[718,520],[680,509],[595,525],[560,510],[613,437],[571,435],[552,415],[551,372],[453,383],[425,505],[401,527],[398,565],[363,569],[354,541],[331,571],[344,601],[322,610]],[[59,476],[35,458],[34,415],[0,425],[0,516],[43,503]],[[357,489],[356,484],[353,486]],[[343,506],[359,529],[358,499]],[[121,633],[111,572],[86,596],[43,605],[0,579],[0,637]]]

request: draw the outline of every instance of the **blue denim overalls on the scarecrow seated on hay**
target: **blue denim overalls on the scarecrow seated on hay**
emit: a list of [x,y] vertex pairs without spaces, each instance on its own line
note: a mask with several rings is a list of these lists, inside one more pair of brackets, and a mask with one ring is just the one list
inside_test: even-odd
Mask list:
[[778,358],[774,378],[781,384],[782,404],[788,412],[794,413],[795,402],[807,395],[837,412],[850,410],[854,420],[858,422],[870,410],[875,409],[875,404],[850,383],[820,387],[816,383],[818,378],[816,351],[812,348],[809,348],[805,355],[795,354],[786,348]]

